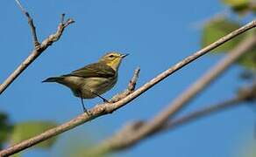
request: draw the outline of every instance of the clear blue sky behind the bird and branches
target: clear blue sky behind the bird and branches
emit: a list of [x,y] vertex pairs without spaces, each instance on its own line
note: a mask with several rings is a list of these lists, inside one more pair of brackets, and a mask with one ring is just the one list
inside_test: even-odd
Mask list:
[[[200,49],[203,22],[227,9],[213,0],[21,2],[34,19],[40,41],[56,30],[63,12],[74,18],[75,24],[1,95],[0,110],[9,113],[12,122],[43,119],[63,123],[82,113],[80,100],[68,88],[42,84],[41,80],[95,62],[107,51],[121,51],[130,56],[120,67],[116,87],[104,94],[105,98],[124,90],[137,66],[141,68],[138,85],[143,85]],[[32,37],[14,0],[2,1],[0,15],[0,82],[3,82],[32,51]],[[199,58],[116,113],[61,134],[48,151],[29,150],[25,156],[58,156],[70,139],[103,140],[126,122],[152,118],[220,58],[210,55]],[[234,96],[241,85],[239,72],[239,66],[232,66],[191,102],[185,112]],[[100,102],[101,99],[87,100],[86,105],[92,107]],[[248,107],[238,107],[144,140],[117,156],[243,156],[252,141],[254,119]]]

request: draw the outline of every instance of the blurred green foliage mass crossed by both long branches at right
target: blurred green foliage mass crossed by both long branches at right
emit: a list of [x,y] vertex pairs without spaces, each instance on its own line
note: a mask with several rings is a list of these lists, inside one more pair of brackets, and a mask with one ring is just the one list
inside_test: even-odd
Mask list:
[[[211,19],[208,23],[203,25],[202,33],[202,46],[207,46],[231,31],[237,30],[241,24],[234,22],[228,17],[217,17]],[[233,38],[227,43],[219,46],[213,52],[230,52],[234,49],[242,40],[249,36],[256,36],[255,31],[248,31],[245,34],[240,35],[238,38]],[[243,65],[246,69],[255,70],[256,68],[256,45],[252,50],[248,51],[237,62],[239,65]]]

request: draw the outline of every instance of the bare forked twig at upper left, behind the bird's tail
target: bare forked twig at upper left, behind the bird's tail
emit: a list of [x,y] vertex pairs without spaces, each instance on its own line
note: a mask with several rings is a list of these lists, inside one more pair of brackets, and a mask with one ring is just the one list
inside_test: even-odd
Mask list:
[[68,18],[67,21],[64,22],[64,14],[61,15],[61,22],[58,26],[58,30],[50,35],[48,38],[46,38],[42,44],[39,44],[37,35],[36,35],[36,28],[33,24],[32,18],[30,17],[29,13],[22,7],[21,3],[19,3],[18,0],[16,0],[16,2],[18,3],[18,6],[20,7],[20,9],[22,10],[22,12],[25,14],[25,16],[28,18],[28,24],[31,27],[31,31],[32,31],[32,38],[33,38],[33,43],[34,43],[34,50],[32,51],[31,55],[28,56],[23,63],[21,63],[18,68],[11,73],[11,75],[5,79],[4,83],[0,85],[0,95],[4,92],[4,90],[11,85],[11,83],[18,78],[18,76],[24,72],[24,70],[30,65],[32,64],[32,62],[39,57],[39,55],[46,50],[46,48],[48,48],[49,45],[53,44],[54,42],[56,42],[62,32],[64,31],[64,29],[69,25],[74,23],[75,21],[71,18]]

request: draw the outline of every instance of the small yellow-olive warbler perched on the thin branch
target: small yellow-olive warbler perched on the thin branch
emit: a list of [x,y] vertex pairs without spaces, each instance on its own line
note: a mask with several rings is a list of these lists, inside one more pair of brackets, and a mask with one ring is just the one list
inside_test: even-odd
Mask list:
[[42,82],[57,82],[68,86],[75,97],[81,98],[83,112],[87,113],[83,99],[99,97],[107,102],[107,99],[104,99],[101,95],[116,85],[119,65],[127,55],[109,52],[100,58],[97,63],[85,65],[81,69],[60,77],[46,78]]

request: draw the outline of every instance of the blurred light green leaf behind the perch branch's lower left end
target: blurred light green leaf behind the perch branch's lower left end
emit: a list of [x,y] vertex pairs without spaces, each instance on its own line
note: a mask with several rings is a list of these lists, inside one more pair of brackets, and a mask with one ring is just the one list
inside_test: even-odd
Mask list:
[[[52,121],[29,121],[18,123],[13,127],[13,132],[11,134],[11,144],[16,144],[22,140],[32,138],[33,136],[38,135],[39,133],[43,133],[47,129],[53,128],[54,126],[57,126],[57,124]],[[56,138],[46,140],[39,143],[39,145],[36,145],[36,147],[51,147],[53,146],[55,140]]]

